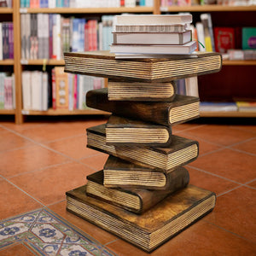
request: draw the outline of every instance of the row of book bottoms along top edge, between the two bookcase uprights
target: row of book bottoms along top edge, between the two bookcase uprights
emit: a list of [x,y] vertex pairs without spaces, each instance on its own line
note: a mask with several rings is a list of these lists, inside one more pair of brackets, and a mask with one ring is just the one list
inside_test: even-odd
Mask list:
[[111,8],[153,6],[154,0],[20,0],[20,8]]

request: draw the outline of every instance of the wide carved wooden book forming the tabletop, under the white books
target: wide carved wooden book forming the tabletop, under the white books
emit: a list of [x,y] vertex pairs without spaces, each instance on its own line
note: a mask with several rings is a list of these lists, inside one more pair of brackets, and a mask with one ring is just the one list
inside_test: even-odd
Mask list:
[[[196,52],[163,58],[115,59],[109,51],[65,53],[65,72],[137,82],[169,82],[195,75],[216,73],[222,67],[219,53]],[[78,65],[79,63],[79,65]],[[113,73],[114,70],[114,73]],[[138,72],[138,70],[140,72]],[[180,72],[183,70],[183,73]]]

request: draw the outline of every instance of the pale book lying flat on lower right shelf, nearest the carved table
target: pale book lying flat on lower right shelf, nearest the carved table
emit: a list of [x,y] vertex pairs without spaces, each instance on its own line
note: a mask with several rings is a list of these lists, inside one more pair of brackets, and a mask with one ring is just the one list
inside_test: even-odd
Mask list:
[[228,112],[237,111],[236,102],[200,102],[199,109],[201,112]]

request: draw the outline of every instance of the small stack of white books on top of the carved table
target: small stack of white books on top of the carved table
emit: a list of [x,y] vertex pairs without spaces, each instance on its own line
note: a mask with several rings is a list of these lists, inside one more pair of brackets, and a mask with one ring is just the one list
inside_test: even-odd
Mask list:
[[188,29],[192,15],[117,15],[113,20],[116,57],[189,55],[197,44]]

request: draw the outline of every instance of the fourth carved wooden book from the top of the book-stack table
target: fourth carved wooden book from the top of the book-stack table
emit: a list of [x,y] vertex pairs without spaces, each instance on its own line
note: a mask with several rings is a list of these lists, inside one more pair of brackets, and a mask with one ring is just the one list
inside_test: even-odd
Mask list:
[[165,147],[172,142],[172,128],[112,114],[106,124],[106,142],[108,145]]

